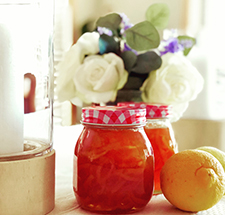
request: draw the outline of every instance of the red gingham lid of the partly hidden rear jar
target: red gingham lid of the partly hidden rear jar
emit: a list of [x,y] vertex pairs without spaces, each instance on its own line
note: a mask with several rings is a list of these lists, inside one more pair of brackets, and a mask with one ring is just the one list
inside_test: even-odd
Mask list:
[[145,102],[120,102],[117,104],[120,107],[140,107],[146,108],[146,118],[169,118],[172,114],[172,106],[166,104],[155,104]]

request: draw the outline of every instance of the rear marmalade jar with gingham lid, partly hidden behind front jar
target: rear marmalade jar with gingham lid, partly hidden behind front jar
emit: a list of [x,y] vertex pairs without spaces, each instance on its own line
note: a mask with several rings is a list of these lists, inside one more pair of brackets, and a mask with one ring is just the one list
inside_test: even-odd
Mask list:
[[160,171],[165,162],[178,152],[173,128],[170,123],[172,106],[165,104],[121,102],[118,106],[146,108],[147,123],[144,130],[151,142],[155,157],[154,194],[162,193]]

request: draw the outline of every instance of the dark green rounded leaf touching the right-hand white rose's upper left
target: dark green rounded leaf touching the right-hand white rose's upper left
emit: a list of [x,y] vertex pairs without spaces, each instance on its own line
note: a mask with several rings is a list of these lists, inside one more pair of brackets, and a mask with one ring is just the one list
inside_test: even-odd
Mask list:
[[137,61],[132,69],[132,72],[138,74],[148,74],[149,72],[158,69],[162,64],[162,59],[155,52],[150,51],[137,56]]

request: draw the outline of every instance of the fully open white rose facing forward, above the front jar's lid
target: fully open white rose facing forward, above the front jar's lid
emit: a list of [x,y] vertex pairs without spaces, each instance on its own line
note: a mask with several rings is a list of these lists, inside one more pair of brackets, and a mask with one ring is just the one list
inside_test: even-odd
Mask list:
[[87,56],[75,71],[74,84],[85,103],[107,103],[127,81],[123,61],[114,53]]

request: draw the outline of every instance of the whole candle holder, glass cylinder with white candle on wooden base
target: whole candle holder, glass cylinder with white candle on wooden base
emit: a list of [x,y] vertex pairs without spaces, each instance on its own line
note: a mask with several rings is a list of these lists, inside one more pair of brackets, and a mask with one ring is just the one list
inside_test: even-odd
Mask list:
[[0,213],[54,208],[53,0],[0,2]]

